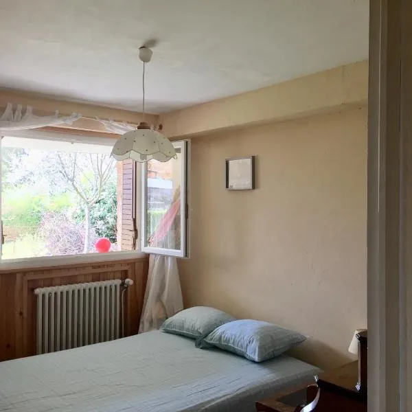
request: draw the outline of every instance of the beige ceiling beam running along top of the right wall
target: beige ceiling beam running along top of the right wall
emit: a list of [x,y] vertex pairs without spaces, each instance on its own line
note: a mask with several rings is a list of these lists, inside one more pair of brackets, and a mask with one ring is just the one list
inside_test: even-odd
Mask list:
[[172,139],[227,128],[284,121],[367,103],[368,62],[327,71],[183,108],[159,116]]

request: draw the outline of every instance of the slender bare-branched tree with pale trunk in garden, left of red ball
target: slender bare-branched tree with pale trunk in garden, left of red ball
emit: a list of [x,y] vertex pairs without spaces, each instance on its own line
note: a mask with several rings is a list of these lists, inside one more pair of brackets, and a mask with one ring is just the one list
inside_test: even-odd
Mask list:
[[102,198],[112,176],[114,159],[108,155],[58,152],[60,174],[73,187],[84,208],[83,253],[90,249],[91,209]]

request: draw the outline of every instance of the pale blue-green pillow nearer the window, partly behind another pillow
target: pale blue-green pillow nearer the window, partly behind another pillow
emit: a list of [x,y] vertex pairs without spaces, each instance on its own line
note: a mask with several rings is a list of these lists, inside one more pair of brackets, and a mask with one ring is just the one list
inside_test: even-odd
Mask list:
[[229,314],[208,306],[195,306],[182,310],[161,325],[163,332],[180,334],[196,339],[196,346],[202,338],[224,323],[236,320]]

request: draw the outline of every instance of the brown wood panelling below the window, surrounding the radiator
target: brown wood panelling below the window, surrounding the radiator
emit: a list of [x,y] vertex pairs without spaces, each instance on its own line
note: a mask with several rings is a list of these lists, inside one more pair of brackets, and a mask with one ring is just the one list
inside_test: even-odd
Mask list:
[[132,279],[126,298],[126,335],[137,334],[148,258],[0,271],[0,361],[36,354],[34,289],[109,279]]

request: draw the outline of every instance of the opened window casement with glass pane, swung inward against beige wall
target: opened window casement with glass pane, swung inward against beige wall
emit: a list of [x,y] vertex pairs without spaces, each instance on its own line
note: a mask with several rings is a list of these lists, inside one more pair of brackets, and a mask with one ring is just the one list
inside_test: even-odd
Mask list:
[[176,159],[144,163],[142,173],[142,251],[188,255],[187,159],[189,142],[176,141]]

